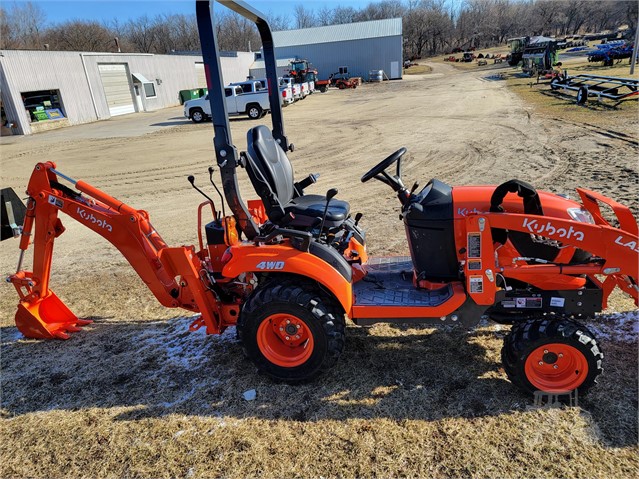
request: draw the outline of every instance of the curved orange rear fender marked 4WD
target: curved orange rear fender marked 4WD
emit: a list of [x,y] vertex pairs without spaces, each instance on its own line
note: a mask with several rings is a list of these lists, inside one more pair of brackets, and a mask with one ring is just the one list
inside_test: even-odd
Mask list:
[[349,281],[326,261],[284,243],[263,245],[254,243],[231,246],[232,258],[222,268],[222,275],[235,278],[242,273],[292,273],[314,279],[328,289],[350,317],[353,306],[353,288]]

